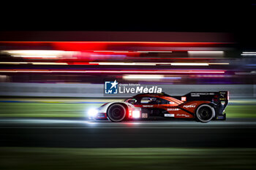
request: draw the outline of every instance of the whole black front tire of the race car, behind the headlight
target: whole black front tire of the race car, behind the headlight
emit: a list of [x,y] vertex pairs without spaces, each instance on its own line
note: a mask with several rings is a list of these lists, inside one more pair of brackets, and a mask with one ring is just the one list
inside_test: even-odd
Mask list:
[[108,107],[108,118],[112,122],[121,122],[127,115],[127,109],[122,104],[112,104]]

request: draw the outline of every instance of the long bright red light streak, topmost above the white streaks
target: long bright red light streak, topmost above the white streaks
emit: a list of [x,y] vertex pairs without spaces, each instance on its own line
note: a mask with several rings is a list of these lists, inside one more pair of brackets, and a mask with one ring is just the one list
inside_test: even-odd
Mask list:
[[[215,47],[231,43],[223,42],[0,42],[0,45],[26,47],[50,47],[53,50],[110,50],[119,47]],[[118,51],[118,50],[117,50]],[[123,51],[123,50],[121,50]],[[141,50],[140,50],[141,51]],[[157,50],[158,51],[158,50]],[[164,50],[163,50],[164,51]]]

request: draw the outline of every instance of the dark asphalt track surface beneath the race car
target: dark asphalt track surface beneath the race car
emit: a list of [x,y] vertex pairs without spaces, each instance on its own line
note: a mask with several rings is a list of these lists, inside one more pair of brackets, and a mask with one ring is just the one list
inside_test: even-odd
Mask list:
[[255,147],[255,119],[111,123],[0,118],[0,147]]

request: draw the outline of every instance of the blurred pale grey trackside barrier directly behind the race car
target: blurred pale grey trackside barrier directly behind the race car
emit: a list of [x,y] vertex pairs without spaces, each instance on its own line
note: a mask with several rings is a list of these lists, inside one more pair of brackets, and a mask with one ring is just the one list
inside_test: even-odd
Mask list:
[[[147,85],[148,88],[156,85]],[[163,92],[182,96],[189,92],[229,90],[231,98],[256,98],[256,85],[157,85]],[[1,82],[0,96],[125,98],[135,94],[104,96],[103,84]]]

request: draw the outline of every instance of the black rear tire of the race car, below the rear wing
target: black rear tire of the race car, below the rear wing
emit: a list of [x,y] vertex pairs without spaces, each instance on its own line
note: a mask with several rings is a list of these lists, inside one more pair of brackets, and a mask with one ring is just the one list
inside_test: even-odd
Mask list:
[[210,105],[202,104],[197,108],[195,115],[198,121],[208,123],[215,117],[215,111]]

